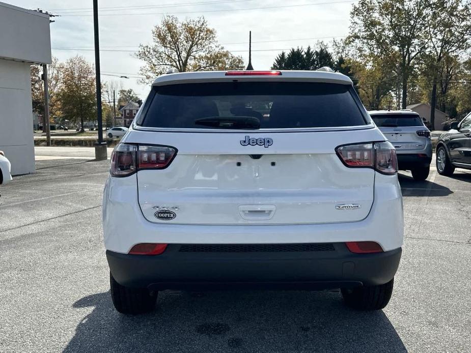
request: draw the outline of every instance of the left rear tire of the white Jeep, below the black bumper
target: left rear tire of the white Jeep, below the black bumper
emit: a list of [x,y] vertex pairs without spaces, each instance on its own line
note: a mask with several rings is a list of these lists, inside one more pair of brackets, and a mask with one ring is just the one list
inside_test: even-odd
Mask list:
[[157,292],[150,294],[147,288],[131,288],[116,282],[109,274],[111,298],[115,309],[122,314],[143,314],[154,310]]

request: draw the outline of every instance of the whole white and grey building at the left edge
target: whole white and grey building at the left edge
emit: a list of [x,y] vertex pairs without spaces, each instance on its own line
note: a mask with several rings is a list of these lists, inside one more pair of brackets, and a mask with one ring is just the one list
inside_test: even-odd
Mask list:
[[30,64],[50,64],[49,16],[0,2],[0,150],[13,175],[35,171]]

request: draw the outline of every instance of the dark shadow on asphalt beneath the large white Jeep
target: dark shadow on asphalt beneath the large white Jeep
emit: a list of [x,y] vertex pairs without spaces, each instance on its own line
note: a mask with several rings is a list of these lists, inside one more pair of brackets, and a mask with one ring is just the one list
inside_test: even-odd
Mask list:
[[163,291],[151,314],[115,311],[109,292],[64,352],[406,352],[382,311],[346,308],[333,291]]

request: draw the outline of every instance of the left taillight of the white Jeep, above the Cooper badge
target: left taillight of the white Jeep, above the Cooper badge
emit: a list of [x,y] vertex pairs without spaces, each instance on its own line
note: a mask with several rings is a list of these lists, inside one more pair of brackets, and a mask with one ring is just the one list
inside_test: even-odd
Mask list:
[[137,170],[167,168],[177,154],[168,146],[120,143],[111,157],[109,173],[113,177],[127,177]]

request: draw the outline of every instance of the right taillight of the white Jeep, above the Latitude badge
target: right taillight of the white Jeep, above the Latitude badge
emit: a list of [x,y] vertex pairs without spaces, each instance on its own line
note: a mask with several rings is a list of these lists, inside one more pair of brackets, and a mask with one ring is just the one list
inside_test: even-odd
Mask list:
[[347,144],[336,148],[349,168],[373,168],[383,174],[397,172],[396,149],[390,142]]

